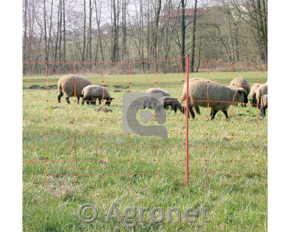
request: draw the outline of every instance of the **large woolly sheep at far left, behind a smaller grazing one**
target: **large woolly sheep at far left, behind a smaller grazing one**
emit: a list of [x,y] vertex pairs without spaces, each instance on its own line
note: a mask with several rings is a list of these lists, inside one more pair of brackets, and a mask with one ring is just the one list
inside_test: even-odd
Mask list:
[[[76,95],[75,95],[75,81],[76,81]],[[60,102],[60,98],[63,96],[63,94],[66,95],[66,102],[69,103],[69,97],[76,96],[78,99],[79,104],[79,98],[83,97],[82,95],[82,89],[85,88],[87,85],[92,85],[92,82],[89,81],[89,79],[70,74],[65,75],[61,77],[58,80],[57,88],[58,88],[58,102]]]

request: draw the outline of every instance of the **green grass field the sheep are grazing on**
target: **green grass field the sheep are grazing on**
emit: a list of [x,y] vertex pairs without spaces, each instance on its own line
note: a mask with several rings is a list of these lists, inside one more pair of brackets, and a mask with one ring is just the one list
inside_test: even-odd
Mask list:
[[[232,72],[232,77],[242,76],[252,85],[254,74]],[[82,76],[102,85],[101,75]],[[48,85],[57,85],[60,77],[48,76]],[[209,77],[231,81],[228,72],[209,72]],[[267,116],[250,105],[239,105],[229,108],[228,120],[218,112],[213,121],[206,121],[210,110],[201,108],[201,114],[189,121],[190,183],[186,186],[185,115],[167,111],[166,140],[122,134],[122,95],[155,87],[155,78],[154,74],[131,75],[129,89],[128,75],[105,75],[104,84],[115,99],[108,107],[112,112],[102,114],[95,110],[99,105],[77,105],[74,98],[70,105],[64,97],[59,104],[57,88],[49,89],[48,98],[46,88],[28,88],[47,86],[46,76],[23,77],[24,231],[267,230]],[[259,72],[256,79],[266,82],[267,72]],[[181,74],[157,74],[157,82],[157,88],[180,99]],[[137,208],[133,230],[116,219],[105,223],[112,201],[122,219],[125,208]],[[84,203],[96,206],[96,221],[79,220],[77,212]],[[206,213],[209,223],[201,215],[195,223],[183,216],[177,222],[175,214],[167,222],[167,208],[178,207],[183,213],[195,207],[200,214],[203,203],[210,209]],[[165,220],[151,223],[150,213],[145,212],[144,221],[138,222],[139,207],[163,208]]]

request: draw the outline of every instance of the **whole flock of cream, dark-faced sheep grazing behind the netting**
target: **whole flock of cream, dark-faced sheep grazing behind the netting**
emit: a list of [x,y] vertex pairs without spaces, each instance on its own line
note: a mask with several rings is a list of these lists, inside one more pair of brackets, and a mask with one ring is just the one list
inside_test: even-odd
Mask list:
[[[227,109],[237,103],[241,103],[242,107],[246,107],[248,103],[248,95],[250,94],[250,103],[253,107],[258,106],[263,114],[266,114],[266,108],[268,107],[268,82],[265,84],[254,84],[250,89],[250,83],[242,77],[232,80],[229,86],[222,85],[220,83],[203,79],[203,78],[191,78],[189,79],[188,96],[189,96],[189,109],[192,118],[195,118],[195,113],[192,108],[195,108],[195,112],[200,114],[199,106],[211,108],[211,119],[218,111],[222,111],[226,118]],[[66,95],[66,101],[69,104],[69,97],[76,96],[78,103],[80,97],[82,97],[82,105],[95,104],[97,99],[99,104],[101,101],[106,100],[105,104],[110,105],[114,99],[110,96],[109,91],[101,86],[92,85],[92,82],[81,76],[65,75],[61,77],[57,84],[58,87],[58,101],[60,102],[63,94]],[[187,84],[183,86],[181,100],[186,101]],[[75,94],[76,92],[76,94]],[[177,98],[170,96],[169,92],[163,89],[148,89],[147,93],[161,93],[163,94],[164,108],[171,108],[175,111],[179,109],[182,114],[185,112],[185,107],[182,107]],[[145,107],[151,107],[149,102],[144,104]]]

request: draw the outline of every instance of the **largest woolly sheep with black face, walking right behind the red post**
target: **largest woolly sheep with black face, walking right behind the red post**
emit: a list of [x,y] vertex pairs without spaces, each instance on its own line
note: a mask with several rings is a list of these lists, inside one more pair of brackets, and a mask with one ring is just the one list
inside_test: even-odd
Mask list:
[[[247,103],[247,93],[243,88],[231,88],[203,78],[191,78],[189,81],[188,110],[192,118],[195,118],[192,107],[209,106],[212,110],[211,119],[214,119],[215,114],[219,110],[221,110],[226,118],[228,118],[227,109],[233,104],[233,101]],[[183,87],[181,100],[186,100],[186,85]]]

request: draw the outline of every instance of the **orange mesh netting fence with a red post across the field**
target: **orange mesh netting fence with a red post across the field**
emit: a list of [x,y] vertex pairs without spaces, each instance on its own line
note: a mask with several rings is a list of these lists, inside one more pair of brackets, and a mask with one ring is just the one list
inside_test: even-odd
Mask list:
[[[209,83],[229,85],[237,76],[235,71],[244,69],[253,70],[249,75],[256,83],[263,84],[257,75],[266,69],[191,56],[201,60],[205,67],[203,72],[192,73],[189,57],[117,63],[23,62],[27,67],[37,65],[40,73],[23,78],[23,178],[43,177],[47,184],[50,178],[71,176],[77,185],[83,176],[97,176],[103,185],[106,176],[124,176],[131,184],[136,176],[156,176],[158,181],[160,175],[171,175],[180,179],[182,186],[199,176],[205,189],[211,185],[213,175],[234,176],[236,181],[242,175],[259,176],[263,182],[267,175],[267,122],[260,117],[259,102],[254,104],[255,115],[246,117],[252,113],[246,109],[252,110],[253,104],[246,103],[248,108],[241,108],[240,102],[235,102],[236,94],[233,101],[215,101],[210,98]],[[215,78],[212,64],[217,69],[227,69],[223,73],[227,76]],[[84,74],[88,70],[86,66],[90,66],[92,73]],[[235,68],[238,69],[233,71]],[[65,74],[73,74],[75,78],[71,81],[74,95],[69,99],[70,105],[65,95],[58,104],[56,93],[58,79]],[[108,88],[115,97],[111,104],[105,104],[103,93],[100,101],[87,100],[97,108],[78,105],[76,85],[82,81],[76,79],[77,75]],[[187,98],[181,99],[184,84],[190,85],[191,77],[208,80],[206,100],[191,99],[190,89],[186,91]],[[176,113],[170,110],[166,113],[167,141],[122,131],[121,95],[146,92],[149,88],[169,90],[181,102],[181,112],[177,109]],[[34,89],[39,91],[34,93]],[[207,102],[208,107],[201,107],[200,115],[193,119],[189,112],[191,102]],[[229,103],[229,119],[211,120],[211,102]],[[110,110],[113,112],[107,112]],[[156,118],[150,123],[157,125]]]

